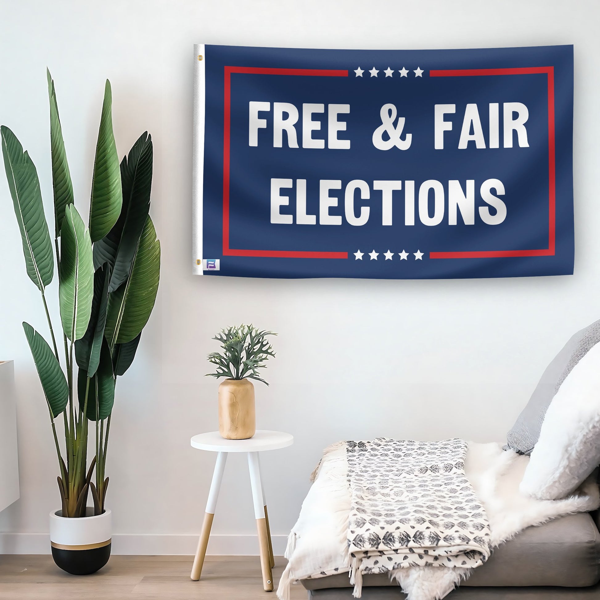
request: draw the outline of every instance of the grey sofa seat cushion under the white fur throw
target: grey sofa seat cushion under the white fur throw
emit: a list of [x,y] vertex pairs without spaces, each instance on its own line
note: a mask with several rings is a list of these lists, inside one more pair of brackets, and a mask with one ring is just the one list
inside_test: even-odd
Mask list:
[[[441,567],[440,567],[441,568]],[[600,533],[587,512],[528,527],[494,550],[461,586],[587,587],[600,581]],[[351,587],[341,573],[302,580],[308,590]],[[365,575],[363,586],[395,586],[388,575]]]

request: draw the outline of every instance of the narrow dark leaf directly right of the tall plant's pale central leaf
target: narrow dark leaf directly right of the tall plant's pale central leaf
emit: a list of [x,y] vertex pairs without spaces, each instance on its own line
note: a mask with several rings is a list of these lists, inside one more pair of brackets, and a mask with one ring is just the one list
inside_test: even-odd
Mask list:
[[100,349],[104,340],[106,308],[109,299],[110,266],[103,265],[94,273],[92,312],[85,335],[75,343],[75,359],[80,368],[93,377],[100,362]]

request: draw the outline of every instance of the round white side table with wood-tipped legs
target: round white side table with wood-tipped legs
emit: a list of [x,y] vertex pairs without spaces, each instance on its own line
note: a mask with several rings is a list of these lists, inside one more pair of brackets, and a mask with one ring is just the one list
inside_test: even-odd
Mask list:
[[271,531],[269,529],[269,516],[266,509],[265,490],[260,479],[259,452],[286,448],[293,444],[293,436],[281,431],[257,430],[253,437],[247,440],[226,440],[218,431],[200,433],[191,438],[193,448],[218,452],[217,463],[212,474],[211,490],[208,493],[206,512],[202,523],[202,531],[198,540],[198,548],[194,557],[190,577],[197,581],[202,574],[202,565],[206,556],[206,546],[211,535],[212,520],[215,516],[217,497],[223,479],[227,454],[229,452],[245,452],[248,455],[248,470],[250,470],[250,484],[254,502],[254,517],[259,535],[260,567],[262,569],[263,587],[265,591],[273,590],[273,575],[271,569],[275,566],[273,559],[273,546]]

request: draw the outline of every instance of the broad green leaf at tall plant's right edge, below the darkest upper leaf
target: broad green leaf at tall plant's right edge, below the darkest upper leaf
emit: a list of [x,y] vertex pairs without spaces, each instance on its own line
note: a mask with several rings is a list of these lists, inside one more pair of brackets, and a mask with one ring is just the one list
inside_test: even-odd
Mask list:
[[106,339],[110,347],[133,340],[152,312],[160,277],[160,242],[148,217],[127,281],[109,295]]

